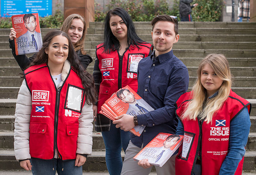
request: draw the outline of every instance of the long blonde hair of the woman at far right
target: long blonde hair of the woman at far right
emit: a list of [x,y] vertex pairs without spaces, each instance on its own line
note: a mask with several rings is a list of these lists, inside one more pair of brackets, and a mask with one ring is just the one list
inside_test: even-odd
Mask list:
[[[209,64],[216,75],[223,80],[218,95],[207,100],[206,89],[201,83],[201,71],[206,64]],[[227,58],[223,54],[207,55],[197,69],[197,79],[192,88],[193,94],[191,94],[193,95],[192,100],[187,104],[185,113],[181,117],[192,120],[200,117],[200,119],[205,119],[207,123],[211,122],[214,113],[221,108],[223,102],[229,97],[230,88],[231,73]]]

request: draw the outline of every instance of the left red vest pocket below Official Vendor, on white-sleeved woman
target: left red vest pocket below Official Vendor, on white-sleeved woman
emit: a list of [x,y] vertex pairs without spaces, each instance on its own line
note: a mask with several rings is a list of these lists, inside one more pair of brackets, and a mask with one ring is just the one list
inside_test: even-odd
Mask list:
[[45,149],[46,123],[30,122],[29,125],[29,151],[34,154],[42,154]]

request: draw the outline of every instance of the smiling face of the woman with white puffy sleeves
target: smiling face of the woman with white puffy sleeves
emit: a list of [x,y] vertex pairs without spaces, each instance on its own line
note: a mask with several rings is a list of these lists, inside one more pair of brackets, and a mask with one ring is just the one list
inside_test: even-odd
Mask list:
[[53,37],[45,53],[48,54],[49,66],[64,65],[68,58],[68,39],[62,35]]

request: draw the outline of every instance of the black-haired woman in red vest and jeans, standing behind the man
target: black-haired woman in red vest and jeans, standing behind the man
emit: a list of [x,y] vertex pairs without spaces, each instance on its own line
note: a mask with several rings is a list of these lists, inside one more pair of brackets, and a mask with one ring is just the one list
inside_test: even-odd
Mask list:
[[[121,173],[121,148],[129,144],[129,132],[117,129],[112,121],[99,114],[102,104],[118,89],[129,85],[137,91],[138,63],[152,53],[153,46],[142,41],[129,14],[123,8],[108,12],[104,21],[104,42],[96,46],[93,71],[99,93],[94,105],[95,129],[102,132],[106,147],[106,164],[110,175]],[[98,107],[98,108],[97,108]]]

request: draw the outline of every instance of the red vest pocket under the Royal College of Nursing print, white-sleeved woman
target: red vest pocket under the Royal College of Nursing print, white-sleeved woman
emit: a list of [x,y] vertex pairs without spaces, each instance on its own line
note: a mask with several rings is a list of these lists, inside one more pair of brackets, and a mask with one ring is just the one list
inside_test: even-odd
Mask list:
[[64,152],[67,155],[75,155],[77,148],[78,125],[67,125],[67,137],[65,139]]

